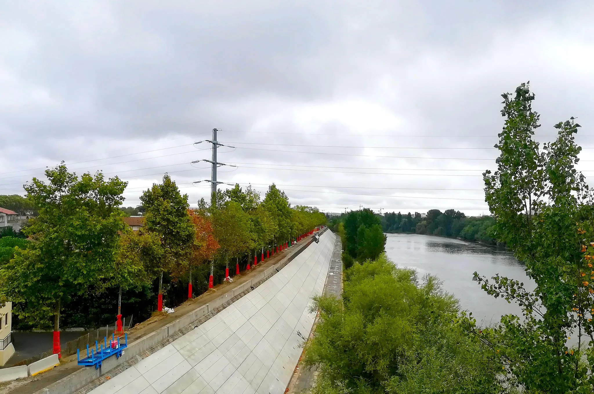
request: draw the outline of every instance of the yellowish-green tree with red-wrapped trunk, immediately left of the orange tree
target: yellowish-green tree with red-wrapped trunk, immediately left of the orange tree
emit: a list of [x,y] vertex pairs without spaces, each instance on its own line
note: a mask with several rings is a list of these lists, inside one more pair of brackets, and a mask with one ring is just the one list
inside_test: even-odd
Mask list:
[[180,266],[187,266],[191,257],[191,246],[195,242],[194,225],[188,215],[188,195],[181,195],[175,182],[168,174],[163,183],[146,190],[140,197],[145,212],[143,232],[159,234],[163,253],[160,259],[159,304],[163,297],[163,272],[182,272]]

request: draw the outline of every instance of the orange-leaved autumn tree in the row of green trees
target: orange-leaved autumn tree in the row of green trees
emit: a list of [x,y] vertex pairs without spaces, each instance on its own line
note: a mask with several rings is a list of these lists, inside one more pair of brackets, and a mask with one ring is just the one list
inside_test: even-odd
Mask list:
[[198,266],[212,260],[214,253],[219,249],[219,242],[214,237],[213,226],[206,215],[201,211],[188,209],[188,215],[194,224],[196,240],[192,246],[191,257],[189,258],[189,284],[188,298],[192,298],[192,266]]

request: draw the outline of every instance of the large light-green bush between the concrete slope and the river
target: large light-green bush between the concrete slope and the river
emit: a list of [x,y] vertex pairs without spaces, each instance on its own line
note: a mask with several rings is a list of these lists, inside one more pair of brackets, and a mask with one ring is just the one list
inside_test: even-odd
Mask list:
[[343,298],[315,298],[320,320],[304,364],[314,394],[499,393],[500,360],[457,325],[457,301],[385,255],[345,271]]

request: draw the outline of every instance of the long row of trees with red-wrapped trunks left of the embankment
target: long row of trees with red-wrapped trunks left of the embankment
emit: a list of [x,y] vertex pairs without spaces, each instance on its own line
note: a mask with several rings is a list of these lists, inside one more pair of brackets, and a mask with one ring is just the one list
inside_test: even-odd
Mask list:
[[[176,306],[187,298],[176,290],[189,288],[191,297],[194,282],[195,292],[206,291],[326,221],[316,208],[291,207],[274,185],[263,199],[236,185],[219,190],[214,204],[190,209],[165,175],[141,196],[144,225],[132,231],[119,209],[127,182],[100,172],[78,177],[64,164],[46,177],[25,186],[39,212],[23,229],[28,239],[0,239],[0,303],[12,301],[17,324],[48,328],[53,321],[54,335],[62,313],[68,325],[113,322],[120,294],[137,321],[163,302]],[[236,269],[223,274],[230,260]],[[163,298],[166,290],[172,297]]]

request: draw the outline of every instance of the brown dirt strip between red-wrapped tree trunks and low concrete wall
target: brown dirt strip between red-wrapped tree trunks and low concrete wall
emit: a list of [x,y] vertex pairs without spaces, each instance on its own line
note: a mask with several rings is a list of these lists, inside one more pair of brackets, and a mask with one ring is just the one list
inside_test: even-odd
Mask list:
[[[305,247],[307,247],[308,243],[311,241],[311,237],[312,236],[305,237],[303,240],[301,240],[301,242],[296,244],[295,247],[297,247],[298,250],[305,249]],[[192,298],[191,300],[185,301],[184,303],[175,308],[175,313],[155,313],[154,316],[150,317],[150,319],[138,323],[137,325],[126,331],[126,333],[128,334],[128,343],[130,344],[134,341],[137,341],[138,339],[143,338],[143,336],[149,335],[150,333],[157,331],[162,327],[165,327],[169,323],[175,322],[175,320],[179,319],[180,317],[183,317],[188,313],[194,312],[194,310],[198,309],[199,307],[206,305],[213,300],[216,300],[216,298],[220,297],[221,295],[228,293],[230,290],[233,290],[234,288],[239,287],[239,285],[242,285],[245,282],[253,279],[255,276],[260,274],[260,272],[262,272],[262,269],[266,269],[270,266],[273,266],[276,263],[279,263],[282,259],[289,256],[290,253],[295,251],[295,249],[293,248],[294,247],[290,247],[289,249],[276,253],[276,255],[264,260],[264,262],[259,262],[257,266],[252,266],[252,269],[250,271],[243,271],[241,272],[241,274],[235,275],[235,277],[233,277],[233,283],[225,282],[223,284],[216,285],[214,288],[208,290],[206,293],[203,293],[198,297]],[[244,293],[247,294],[248,292],[245,291]],[[233,298],[233,301],[235,301],[235,298],[240,298],[242,295],[244,294],[238,294],[237,297]],[[227,305],[225,305],[225,307],[226,306]],[[217,309],[222,310],[224,308]],[[218,313],[220,312],[220,310],[215,310],[214,312]],[[209,313],[207,316],[204,317],[210,318],[211,316],[213,315]],[[198,320],[198,322],[200,322],[200,320]],[[68,376],[69,374],[72,374],[75,371],[84,368],[77,364],[77,358],[75,354],[69,357],[62,358],[60,362],[60,366],[53,368],[52,370],[45,372],[43,374],[39,374],[34,377],[29,377],[27,379],[14,380],[13,382],[0,383],[0,394],[34,394],[37,391],[51,385],[52,383],[58,382],[58,380]],[[109,371],[109,374],[112,374],[111,371]]]

